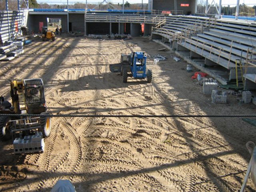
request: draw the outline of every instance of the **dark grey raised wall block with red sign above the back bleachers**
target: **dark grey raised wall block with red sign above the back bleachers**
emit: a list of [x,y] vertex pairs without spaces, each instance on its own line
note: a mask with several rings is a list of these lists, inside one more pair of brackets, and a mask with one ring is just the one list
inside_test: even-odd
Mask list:
[[[181,7],[181,4],[189,4],[189,7]],[[177,0],[177,10],[183,10],[183,14],[194,14],[196,0]],[[174,10],[173,0],[154,0],[154,10]],[[173,12],[174,14],[174,12]]]

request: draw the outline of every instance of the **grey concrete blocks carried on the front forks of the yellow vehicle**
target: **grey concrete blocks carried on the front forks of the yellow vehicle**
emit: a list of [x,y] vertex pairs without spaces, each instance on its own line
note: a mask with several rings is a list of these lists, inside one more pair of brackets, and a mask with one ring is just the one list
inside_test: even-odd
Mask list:
[[42,153],[45,149],[45,142],[43,134],[36,132],[35,135],[25,136],[22,138],[15,138],[13,141],[14,153]]

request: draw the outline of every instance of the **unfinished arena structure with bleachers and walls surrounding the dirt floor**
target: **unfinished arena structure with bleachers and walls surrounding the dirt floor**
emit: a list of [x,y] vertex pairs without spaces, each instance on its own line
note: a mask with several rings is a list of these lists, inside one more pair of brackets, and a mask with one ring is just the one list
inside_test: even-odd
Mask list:
[[[232,81],[244,90],[256,89],[255,20],[198,16],[195,0],[148,2],[148,10],[18,9],[0,12],[0,43],[18,33],[40,32],[58,21],[64,33],[148,36],[176,51],[188,64],[222,85]],[[20,3],[18,2],[18,5]],[[18,6],[19,7],[19,6]],[[157,11],[156,11],[157,10]],[[56,22],[54,22],[56,23]],[[53,27],[56,27],[53,26]]]

